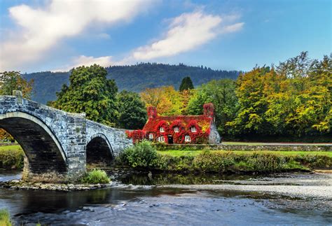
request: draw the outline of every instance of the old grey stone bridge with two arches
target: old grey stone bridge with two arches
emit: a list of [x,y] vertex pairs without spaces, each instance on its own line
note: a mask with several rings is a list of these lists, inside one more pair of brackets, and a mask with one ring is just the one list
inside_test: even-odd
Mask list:
[[87,163],[109,163],[132,144],[125,129],[17,96],[0,96],[0,128],[22,146],[27,181],[75,181]]

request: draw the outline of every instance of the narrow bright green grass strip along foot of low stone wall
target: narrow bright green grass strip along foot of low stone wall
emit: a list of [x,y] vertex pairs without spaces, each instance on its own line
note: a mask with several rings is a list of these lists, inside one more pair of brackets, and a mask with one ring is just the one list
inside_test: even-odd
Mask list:
[[[213,152],[228,152],[227,150],[210,150],[212,153]],[[277,154],[277,155],[328,155],[329,157],[332,157],[332,152],[328,151],[273,151],[273,150],[256,150],[256,151],[251,151],[251,150],[232,150],[233,153],[237,154],[243,154],[243,153],[272,153],[272,154]],[[200,153],[202,153],[202,150],[160,150],[158,153],[162,155],[172,155],[172,156],[195,156]]]

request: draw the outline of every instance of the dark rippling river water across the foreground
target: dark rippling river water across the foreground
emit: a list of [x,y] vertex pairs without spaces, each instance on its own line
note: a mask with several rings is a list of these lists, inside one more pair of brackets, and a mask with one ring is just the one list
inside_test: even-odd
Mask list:
[[[0,181],[15,178],[20,172],[0,171]],[[0,188],[0,209],[8,209],[15,225],[332,225],[331,210],[303,206],[314,202],[310,199],[160,188],[151,184],[193,183],[193,178],[155,178],[125,177],[114,188],[77,192]],[[194,183],[211,181],[216,180]]]

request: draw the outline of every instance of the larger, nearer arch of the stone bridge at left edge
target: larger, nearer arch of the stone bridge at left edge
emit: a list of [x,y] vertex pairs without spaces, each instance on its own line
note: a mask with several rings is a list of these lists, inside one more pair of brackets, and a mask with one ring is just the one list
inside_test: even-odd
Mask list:
[[24,150],[27,176],[66,173],[64,150],[55,134],[39,118],[21,111],[8,112],[0,114],[0,127],[9,132]]

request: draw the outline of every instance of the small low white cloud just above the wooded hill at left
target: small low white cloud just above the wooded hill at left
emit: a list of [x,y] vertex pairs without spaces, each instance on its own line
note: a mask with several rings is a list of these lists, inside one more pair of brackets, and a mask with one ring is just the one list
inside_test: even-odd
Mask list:
[[73,59],[71,65],[64,66],[60,69],[54,69],[52,71],[69,71],[78,66],[91,66],[93,64],[99,64],[100,66],[111,66],[114,64],[111,56],[106,57],[87,57],[85,55],[81,55]]

